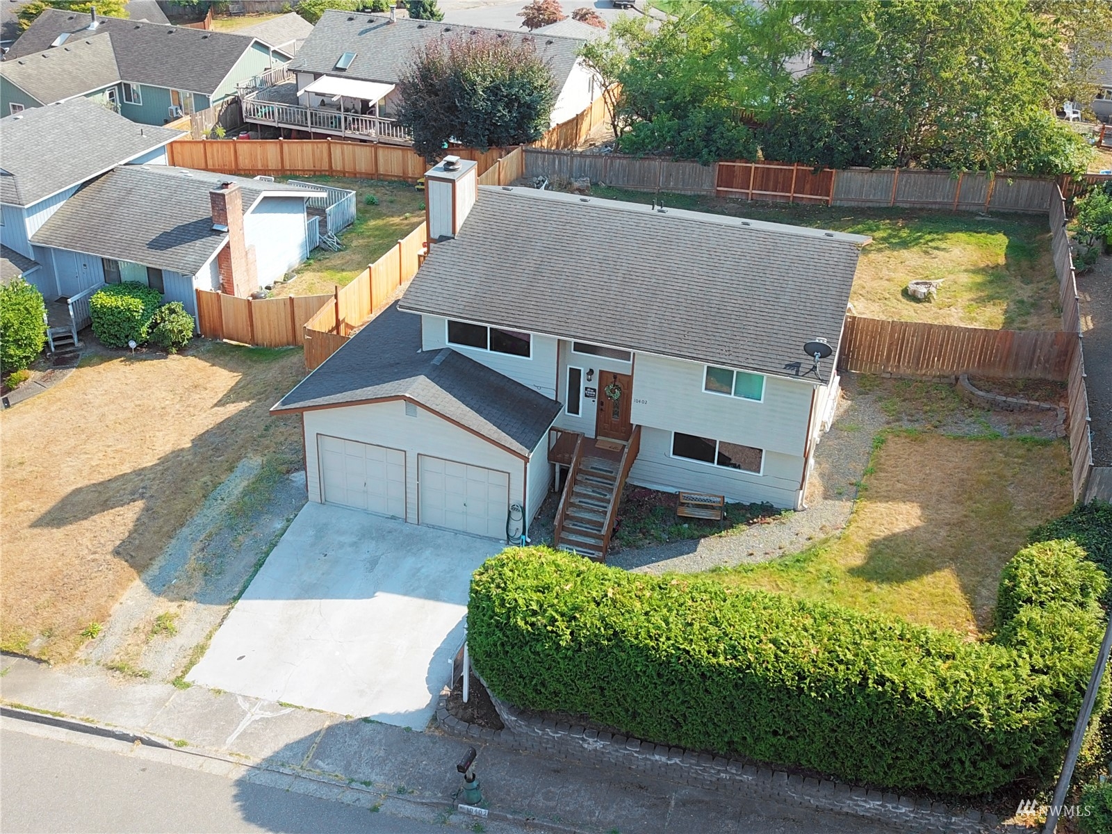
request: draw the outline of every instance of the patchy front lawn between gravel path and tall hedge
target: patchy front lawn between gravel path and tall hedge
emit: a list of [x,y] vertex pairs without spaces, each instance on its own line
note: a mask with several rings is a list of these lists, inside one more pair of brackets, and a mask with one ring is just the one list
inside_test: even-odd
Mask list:
[[1065,443],[916,431],[882,438],[840,537],[709,575],[986,634],[1001,568],[1031,528],[1073,503]]

